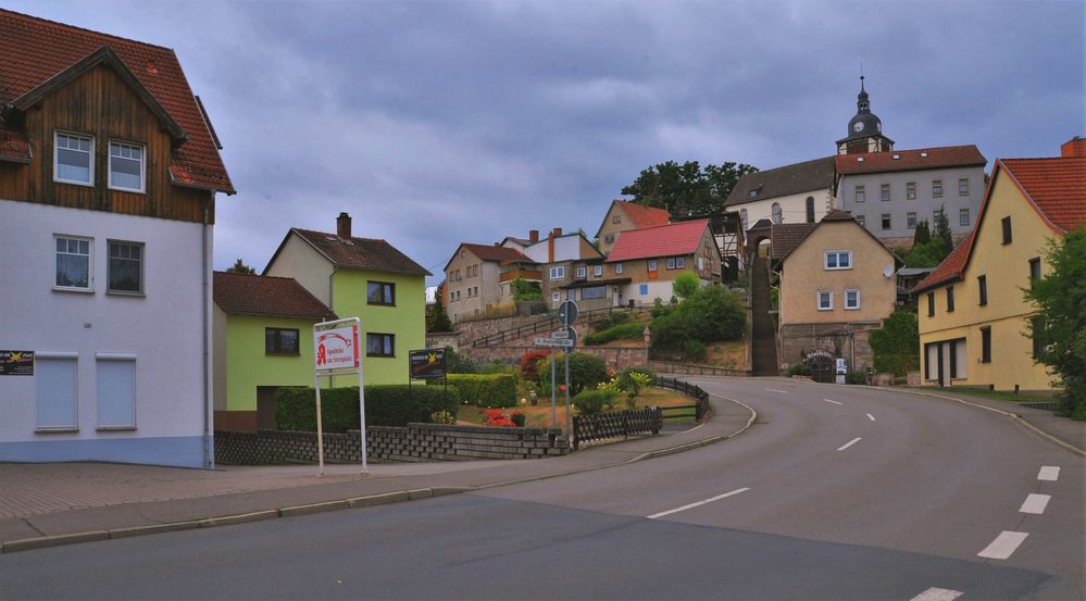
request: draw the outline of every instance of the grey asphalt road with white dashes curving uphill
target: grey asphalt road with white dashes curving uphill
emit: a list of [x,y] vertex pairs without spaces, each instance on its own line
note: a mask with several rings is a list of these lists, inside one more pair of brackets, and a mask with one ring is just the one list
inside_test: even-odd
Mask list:
[[695,380],[758,423],[478,493],[5,554],[0,597],[1086,598],[1083,460],[949,401]]

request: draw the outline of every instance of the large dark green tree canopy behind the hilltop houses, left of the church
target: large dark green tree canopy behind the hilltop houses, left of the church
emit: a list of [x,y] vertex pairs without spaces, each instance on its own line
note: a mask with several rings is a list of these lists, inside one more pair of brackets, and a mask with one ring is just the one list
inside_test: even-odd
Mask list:
[[633,196],[638,204],[666,209],[672,216],[709,215],[722,211],[739,178],[756,171],[732,161],[704,168],[697,161],[682,165],[667,161],[642,170],[622,193]]

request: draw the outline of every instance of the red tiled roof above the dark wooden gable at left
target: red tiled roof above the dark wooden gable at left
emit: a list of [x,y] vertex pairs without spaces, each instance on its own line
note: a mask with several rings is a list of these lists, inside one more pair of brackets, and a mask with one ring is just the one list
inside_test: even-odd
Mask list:
[[[170,173],[174,181],[234,193],[209,124],[168,48],[0,9],[0,104],[14,102],[104,46],[188,135],[188,140],[173,150]],[[17,158],[20,145],[2,140],[0,136],[0,153]]]

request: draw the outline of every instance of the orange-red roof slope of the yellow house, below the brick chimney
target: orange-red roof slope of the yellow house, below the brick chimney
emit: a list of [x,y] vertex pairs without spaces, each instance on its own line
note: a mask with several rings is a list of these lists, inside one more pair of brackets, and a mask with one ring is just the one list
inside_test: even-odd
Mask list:
[[1064,233],[1086,224],[1086,156],[1001,159],[1037,210]]

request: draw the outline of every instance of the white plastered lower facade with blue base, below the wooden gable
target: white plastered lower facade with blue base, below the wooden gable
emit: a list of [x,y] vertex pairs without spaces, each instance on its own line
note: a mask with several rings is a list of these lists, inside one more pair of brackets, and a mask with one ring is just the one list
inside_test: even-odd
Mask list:
[[[58,235],[89,241],[89,291],[54,287]],[[110,241],[142,245],[142,293],[107,292]],[[203,243],[201,224],[0,200],[0,350],[36,353],[0,375],[0,461],[212,464],[210,226]]]

